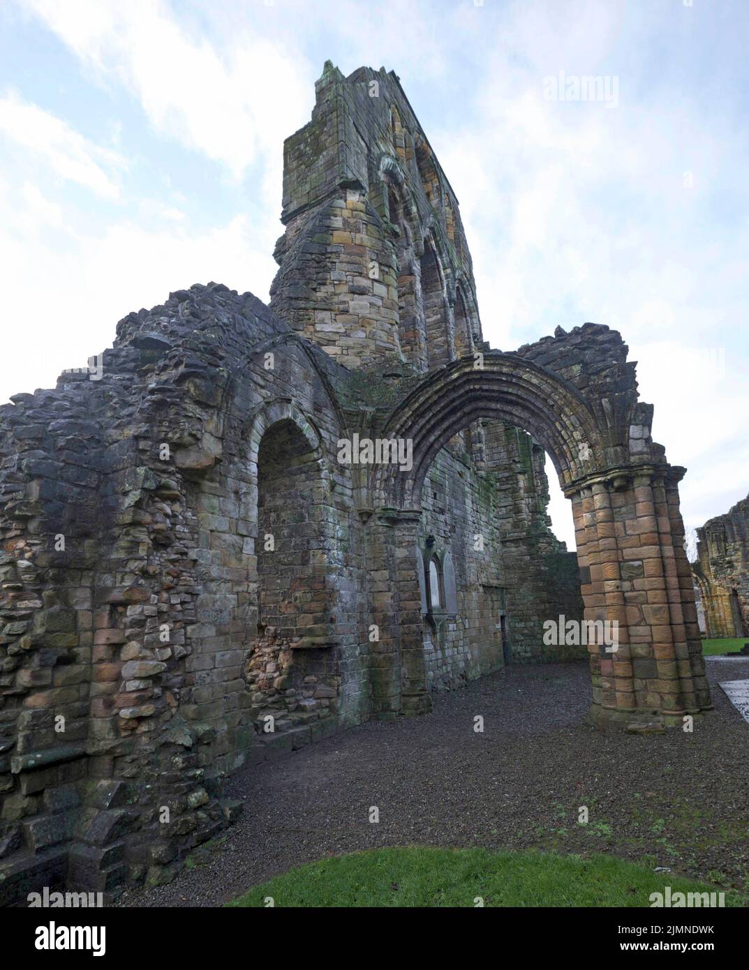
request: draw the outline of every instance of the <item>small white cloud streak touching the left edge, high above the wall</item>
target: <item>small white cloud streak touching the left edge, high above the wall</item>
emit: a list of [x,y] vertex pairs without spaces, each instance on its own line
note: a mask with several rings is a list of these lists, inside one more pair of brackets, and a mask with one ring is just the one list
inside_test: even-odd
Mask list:
[[104,198],[119,195],[112,170],[125,167],[120,155],[94,145],[61,118],[23,101],[14,91],[0,98],[0,134],[48,164],[59,178]]

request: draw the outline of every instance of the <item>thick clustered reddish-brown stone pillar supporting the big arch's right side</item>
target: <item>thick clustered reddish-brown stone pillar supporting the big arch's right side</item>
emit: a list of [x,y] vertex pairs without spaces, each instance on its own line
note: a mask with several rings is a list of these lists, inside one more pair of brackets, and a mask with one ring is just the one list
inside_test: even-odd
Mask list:
[[622,469],[569,493],[585,619],[618,623],[615,652],[588,646],[594,720],[678,724],[710,706],[678,477]]

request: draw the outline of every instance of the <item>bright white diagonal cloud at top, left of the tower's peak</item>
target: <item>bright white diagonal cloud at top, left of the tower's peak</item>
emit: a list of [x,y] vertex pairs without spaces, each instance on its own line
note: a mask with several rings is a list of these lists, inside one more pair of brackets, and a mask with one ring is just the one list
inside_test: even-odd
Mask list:
[[303,124],[312,86],[304,58],[246,24],[225,47],[194,38],[166,4],[28,0],[28,6],[105,83],[134,94],[159,133],[225,164],[239,178],[279,153]]

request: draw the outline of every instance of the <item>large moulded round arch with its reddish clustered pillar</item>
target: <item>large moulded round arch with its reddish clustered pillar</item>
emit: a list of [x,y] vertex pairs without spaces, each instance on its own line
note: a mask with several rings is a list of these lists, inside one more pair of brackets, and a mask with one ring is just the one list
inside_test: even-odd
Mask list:
[[[683,469],[654,464],[660,446],[645,456],[629,419],[622,422],[614,406],[601,404],[594,409],[570,381],[518,354],[487,352],[481,369],[464,358],[425,377],[383,430],[410,441],[410,469],[387,466],[374,475],[380,518],[395,526],[401,550],[398,596],[414,595],[404,557],[437,453],[479,418],[523,428],[549,454],[572,501],[585,621],[591,633],[601,623],[586,644],[592,717],[677,724],[685,713],[711,706],[678,510]],[[611,633],[610,642],[599,629]],[[419,634],[408,626],[400,635],[402,695],[416,711],[430,703]]]

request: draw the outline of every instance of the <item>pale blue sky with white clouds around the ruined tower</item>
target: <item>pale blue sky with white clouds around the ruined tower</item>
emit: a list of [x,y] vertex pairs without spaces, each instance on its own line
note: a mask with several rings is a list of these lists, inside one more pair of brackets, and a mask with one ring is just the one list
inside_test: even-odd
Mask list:
[[749,492],[748,43],[745,0],[0,0],[0,401],[173,290],[267,301],[283,139],[326,59],[384,66],[485,339],[619,330],[698,527]]

